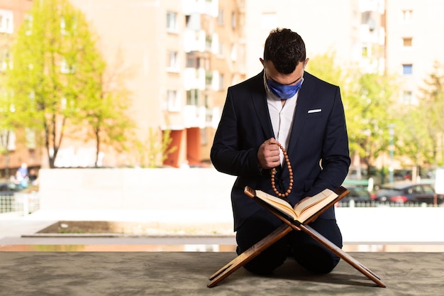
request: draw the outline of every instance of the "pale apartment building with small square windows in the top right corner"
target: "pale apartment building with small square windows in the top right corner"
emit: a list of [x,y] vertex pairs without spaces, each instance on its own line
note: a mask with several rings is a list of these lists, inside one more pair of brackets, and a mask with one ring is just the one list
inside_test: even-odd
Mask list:
[[386,0],[387,71],[401,75],[400,102],[418,104],[433,62],[444,62],[444,2]]

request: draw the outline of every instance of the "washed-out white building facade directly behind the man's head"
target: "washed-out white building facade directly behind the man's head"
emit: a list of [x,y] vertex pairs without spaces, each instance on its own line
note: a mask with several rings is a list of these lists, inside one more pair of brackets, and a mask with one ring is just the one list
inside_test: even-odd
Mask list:
[[334,51],[343,63],[360,59],[358,0],[248,0],[245,11],[248,77],[262,70],[259,57],[263,55],[265,38],[277,27],[291,28],[301,35],[311,62],[316,62],[316,55],[329,51]]

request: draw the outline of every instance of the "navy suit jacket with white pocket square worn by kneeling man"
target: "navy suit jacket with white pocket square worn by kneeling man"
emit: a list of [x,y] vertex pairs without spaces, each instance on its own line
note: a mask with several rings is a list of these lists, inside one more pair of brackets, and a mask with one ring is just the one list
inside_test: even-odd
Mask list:
[[[257,160],[259,146],[268,138],[275,138],[263,75],[262,71],[228,88],[211,147],[216,170],[238,176],[231,192],[235,230],[262,207],[243,193],[245,185],[275,195],[270,170],[261,170]],[[294,174],[293,190],[288,197],[292,205],[326,188],[335,190],[342,185],[350,155],[338,86],[304,73],[287,154]],[[279,168],[277,175],[287,190],[287,165]],[[335,219],[334,207],[321,217]]]

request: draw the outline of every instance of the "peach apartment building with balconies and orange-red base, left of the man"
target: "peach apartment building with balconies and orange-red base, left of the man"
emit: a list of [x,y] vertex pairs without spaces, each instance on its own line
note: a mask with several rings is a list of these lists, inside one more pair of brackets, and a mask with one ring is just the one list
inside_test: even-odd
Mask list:
[[[177,147],[165,165],[201,165],[226,87],[245,78],[243,1],[72,0],[99,33],[106,60],[131,69],[138,135],[171,131]],[[111,158],[118,160],[118,158]],[[104,165],[123,165],[104,159]]]

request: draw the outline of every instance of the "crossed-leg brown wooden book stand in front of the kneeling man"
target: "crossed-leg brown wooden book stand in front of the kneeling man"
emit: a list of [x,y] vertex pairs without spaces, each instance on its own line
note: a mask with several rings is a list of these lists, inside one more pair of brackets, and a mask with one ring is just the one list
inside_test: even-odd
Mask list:
[[[347,190],[347,192],[343,192],[342,194],[344,194],[345,196],[348,193],[349,192]],[[248,261],[252,260],[252,258],[255,258],[262,251],[267,249],[269,246],[271,246],[273,243],[281,239],[292,230],[304,231],[306,234],[309,234],[309,236],[311,236],[313,239],[328,248],[328,250],[342,258],[345,262],[359,270],[360,273],[372,280],[379,287],[386,287],[384,283],[382,283],[381,279],[377,277],[377,275],[372,273],[370,269],[366,268],[364,265],[356,261],[352,256],[348,255],[348,253],[345,253],[342,249],[338,248],[338,246],[336,246],[334,243],[328,241],[325,236],[319,234],[316,230],[311,228],[311,226],[306,225],[310,221],[316,219],[323,211],[313,216],[311,219],[309,219],[309,221],[306,221],[306,224],[300,224],[297,221],[289,221],[289,219],[283,216],[279,211],[277,211],[277,209],[274,209],[274,207],[271,207],[270,204],[263,202],[261,199],[254,196],[252,197],[252,199],[255,199],[256,202],[262,204],[263,207],[267,208],[270,212],[272,212],[272,214],[281,219],[284,224],[279,226],[271,234],[265,236],[264,239],[255,243],[255,245],[251,246],[247,251],[241,253],[239,256],[223,266],[223,268],[219,269],[216,273],[211,275],[211,277],[209,278],[210,283],[207,285],[207,287],[214,287],[218,285],[218,283],[221,283],[221,281],[227,278],[228,275],[231,275],[231,273],[235,272],[235,270],[238,270],[238,268],[242,267],[245,263],[248,263]]]

